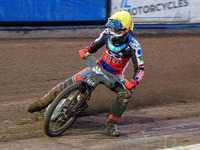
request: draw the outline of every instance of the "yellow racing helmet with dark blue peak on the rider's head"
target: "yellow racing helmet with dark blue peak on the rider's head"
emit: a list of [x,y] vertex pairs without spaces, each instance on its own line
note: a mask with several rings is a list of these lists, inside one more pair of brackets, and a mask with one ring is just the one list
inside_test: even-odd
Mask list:
[[109,30],[109,40],[114,45],[123,43],[128,37],[128,39],[132,38],[134,23],[130,13],[127,11],[118,11],[113,14],[108,18],[105,26]]

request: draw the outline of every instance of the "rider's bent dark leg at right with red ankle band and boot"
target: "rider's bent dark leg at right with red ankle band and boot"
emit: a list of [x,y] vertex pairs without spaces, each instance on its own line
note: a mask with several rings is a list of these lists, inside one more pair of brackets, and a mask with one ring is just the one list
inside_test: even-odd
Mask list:
[[105,124],[105,130],[111,136],[120,136],[121,132],[117,129],[116,124],[120,121],[120,117],[128,106],[129,101],[133,96],[133,91],[124,90],[121,85],[118,84],[116,84],[114,88],[110,89],[117,93],[117,98],[111,106],[110,113]]

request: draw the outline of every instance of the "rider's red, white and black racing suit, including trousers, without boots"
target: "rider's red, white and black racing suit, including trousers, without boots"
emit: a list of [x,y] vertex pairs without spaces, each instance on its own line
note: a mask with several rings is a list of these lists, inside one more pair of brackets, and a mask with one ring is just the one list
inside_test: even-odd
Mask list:
[[[135,87],[140,83],[142,77],[144,76],[144,62],[142,60],[140,44],[134,38],[132,38],[128,41],[127,46],[124,49],[118,53],[114,53],[109,49],[108,38],[109,32],[106,29],[100,34],[100,37],[92,42],[90,46],[86,47],[86,49],[89,51],[89,53],[95,53],[98,49],[105,45],[106,47],[103,55],[99,58],[97,64],[99,64],[99,66],[106,71],[120,76],[121,78],[124,78],[123,73],[129,62],[132,60],[134,64],[132,81],[134,82]],[[85,81],[90,75],[88,71],[89,69],[90,68],[86,68],[83,71],[75,74],[73,76],[73,80],[75,80],[76,83]],[[111,107],[108,118],[119,121],[133,95],[133,90],[124,90],[121,85],[117,83],[114,86],[109,85],[108,82],[103,82],[103,84],[118,94]]]

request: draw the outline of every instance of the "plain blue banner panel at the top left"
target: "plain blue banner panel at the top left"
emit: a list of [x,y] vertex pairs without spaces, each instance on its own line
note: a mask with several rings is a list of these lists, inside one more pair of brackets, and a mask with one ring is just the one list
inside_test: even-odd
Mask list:
[[0,0],[0,22],[102,20],[106,0]]

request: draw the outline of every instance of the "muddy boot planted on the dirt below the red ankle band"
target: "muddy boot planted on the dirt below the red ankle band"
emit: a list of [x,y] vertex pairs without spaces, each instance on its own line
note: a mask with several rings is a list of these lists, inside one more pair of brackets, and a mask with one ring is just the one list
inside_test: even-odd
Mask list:
[[121,132],[117,129],[117,122],[111,119],[106,120],[105,130],[110,136],[120,136]]

